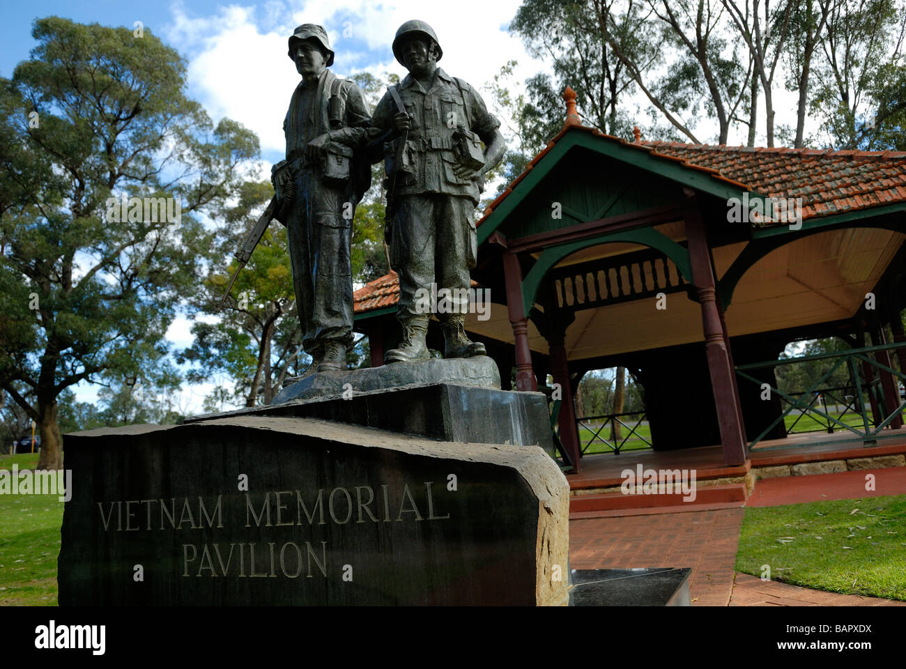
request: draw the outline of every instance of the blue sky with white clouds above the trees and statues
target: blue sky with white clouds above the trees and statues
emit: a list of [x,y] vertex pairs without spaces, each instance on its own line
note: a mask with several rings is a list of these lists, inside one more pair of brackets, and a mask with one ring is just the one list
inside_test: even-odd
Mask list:
[[[296,25],[326,28],[336,53],[332,70],[340,76],[362,70],[402,76],[406,72],[394,60],[390,44],[400,24],[418,18],[438,34],[444,52],[441,67],[481,90],[508,61],[519,63],[516,82],[550,69],[548,63],[526,53],[522,42],[507,31],[520,4],[520,0],[268,0],[257,4],[190,0],[132,5],[110,0],[6,0],[0,22],[0,76],[11,76],[16,63],[28,58],[36,45],[31,28],[37,17],[60,15],[84,24],[130,28],[141,22],[144,30],[158,35],[186,59],[188,96],[205,107],[215,124],[227,117],[255,131],[269,167],[283,158],[283,119],[298,82],[286,53],[287,38]],[[491,110],[503,116],[506,128],[506,115],[485,97]],[[776,111],[778,122],[790,122],[795,112],[792,94],[776,92]],[[640,121],[646,120],[640,115]],[[702,123],[699,138],[716,137],[712,125]],[[180,315],[170,326],[167,338],[175,348],[192,343],[191,325]],[[180,408],[200,412],[214,384],[184,386]],[[97,400],[97,385],[82,383],[75,390],[81,402]]]

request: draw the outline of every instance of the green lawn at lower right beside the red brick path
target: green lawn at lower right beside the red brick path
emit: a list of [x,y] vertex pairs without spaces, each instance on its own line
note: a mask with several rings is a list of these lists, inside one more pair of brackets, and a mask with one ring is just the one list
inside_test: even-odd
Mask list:
[[906,495],[746,509],[737,571],[906,600]]

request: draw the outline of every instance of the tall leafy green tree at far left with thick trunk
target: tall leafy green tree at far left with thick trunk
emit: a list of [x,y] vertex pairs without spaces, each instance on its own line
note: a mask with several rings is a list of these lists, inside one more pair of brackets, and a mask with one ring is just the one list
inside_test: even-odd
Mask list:
[[[258,142],[213,126],[184,94],[185,62],[147,29],[52,16],[33,35],[31,59],[0,82],[0,388],[41,423],[53,464],[60,393],[166,354],[211,247],[193,214],[225,201]],[[108,221],[123,195],[173,198],[181,225]]]

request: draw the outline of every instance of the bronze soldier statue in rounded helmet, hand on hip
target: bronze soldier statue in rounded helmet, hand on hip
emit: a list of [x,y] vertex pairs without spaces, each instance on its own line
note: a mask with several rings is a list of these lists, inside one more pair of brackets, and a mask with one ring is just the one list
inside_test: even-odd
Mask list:
[[[407,21],[393,40],[393,55],[409,74],[390,87],[371,119],[371,136],[399,131],[384,144],[388,166],[385,237],[390,265],[400,276],[397,319],[402,344],[387,363],[427,360],[430,315],[417,294],[446,289],[452,299],[438,318],[445,357],[486,354],[466,336],[468,270],[475,267],[477,234],[473,214],[483,175],[502,158],[506,142],[500,121],[478,92],[438,67],[443,55],[429,24]],[[482,150],[481,142],[486,148]]]

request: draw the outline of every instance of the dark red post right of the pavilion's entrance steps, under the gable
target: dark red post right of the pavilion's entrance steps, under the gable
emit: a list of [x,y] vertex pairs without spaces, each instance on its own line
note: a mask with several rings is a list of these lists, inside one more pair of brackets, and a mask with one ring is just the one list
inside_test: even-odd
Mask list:
[[686,238],[689,242],[689,261],[692,265],[693,284],[699,295],[701,323],[705,334],[705,351],[708,354],[708,371],[714,392],[714,405],[718,412],[720,441],[724,461],[728,465],[745,464],[747,458],[746,432],[740,421],[742,410],[736,389],[733,361],[729,354],[727,333],[722,325],[717,303],[717,289],[705,223],[701,219],[694,191],[686,190]]

